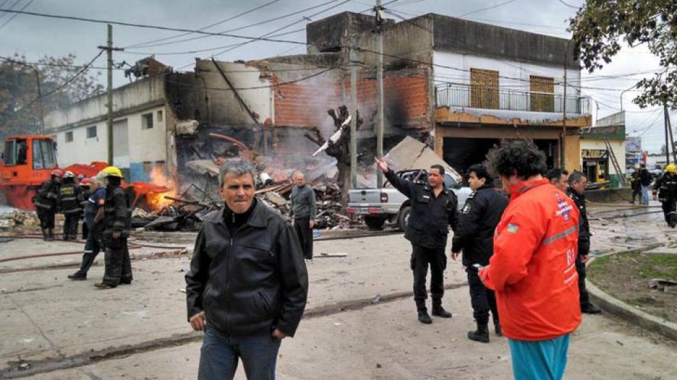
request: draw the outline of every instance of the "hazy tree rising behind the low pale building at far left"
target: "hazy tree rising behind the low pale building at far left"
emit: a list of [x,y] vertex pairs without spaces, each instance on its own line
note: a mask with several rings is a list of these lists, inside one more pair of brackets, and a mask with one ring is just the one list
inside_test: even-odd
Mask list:
[[[40,131],[40,103],[47,114],[101,93],[104,88],[98,76],[82,68],[75,64],[73,54],[45,55],[35,63],[26,62],[23,55],[0,58],[0,139],[8,134]],[[70,83],[64,86],[67,82]]]

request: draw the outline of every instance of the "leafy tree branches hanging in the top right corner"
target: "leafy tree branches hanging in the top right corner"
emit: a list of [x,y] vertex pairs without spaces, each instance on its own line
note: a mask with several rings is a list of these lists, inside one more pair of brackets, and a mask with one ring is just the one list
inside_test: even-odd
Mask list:
[[645,45],[661,71],[641,79],[640,107],[667,103],[677,108],[677,1],[588,0],[570,20],[575,54],[591,73],[611,62],[626,42]]

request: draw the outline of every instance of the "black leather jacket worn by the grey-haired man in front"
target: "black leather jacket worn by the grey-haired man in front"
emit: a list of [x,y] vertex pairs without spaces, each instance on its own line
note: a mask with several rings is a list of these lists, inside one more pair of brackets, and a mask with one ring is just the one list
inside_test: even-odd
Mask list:
[[188,319],[204,310],[207,324],[226,335],[294,336],[305,309],[308,274],[294,229],[255,201],[231,236],[224,207],[208,214],[186,275]]

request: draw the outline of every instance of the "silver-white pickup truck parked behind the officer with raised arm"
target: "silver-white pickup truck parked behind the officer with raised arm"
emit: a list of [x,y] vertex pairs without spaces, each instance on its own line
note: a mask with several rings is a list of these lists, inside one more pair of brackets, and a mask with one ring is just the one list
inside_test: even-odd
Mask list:
[[[405,181],[427,183],[426,170],[401,170],[397,175]],[[461,186],[461,183],[449,173],[444,173],[444,186],[458,197],[458,210],[461,210],[468,195],[473,192],[470,188]],[[388,182],[380,189],[363,188],[348,191],[348,214],[364,216],[364,223],[370,228],[380,229],[386,221],[391,221],[404,231],[407,228],[409,212],[411,212],[409,199]]]

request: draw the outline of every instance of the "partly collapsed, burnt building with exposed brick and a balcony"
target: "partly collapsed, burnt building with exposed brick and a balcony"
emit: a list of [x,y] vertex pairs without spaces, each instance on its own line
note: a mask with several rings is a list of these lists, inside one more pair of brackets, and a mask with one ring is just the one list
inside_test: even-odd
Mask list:
[[[305,54],[134,71],[139,79],[113,92],[113,164],[132,181],[159,168],[207,191],[231,156],[254,160],[272,182],[294,169],[332,177],[335,159],[313,156],[311,137],[328,139],[335,124],[327,111],[351,104],[346,47],[355,36],[358,154],[367,168],[376,151],[374,25],[373,16],[344,12],[307,25]],[[383,33],[385,151],[412,136],[462,171],[499,139],[521,137],[534,139],[551,166],[565,147],[567,168],[580,168],[580,128],[591,116],[568,40],[439,14],[387,22]],[[62,166],[106,160],[105,95],[52,112],[45,124]]]

